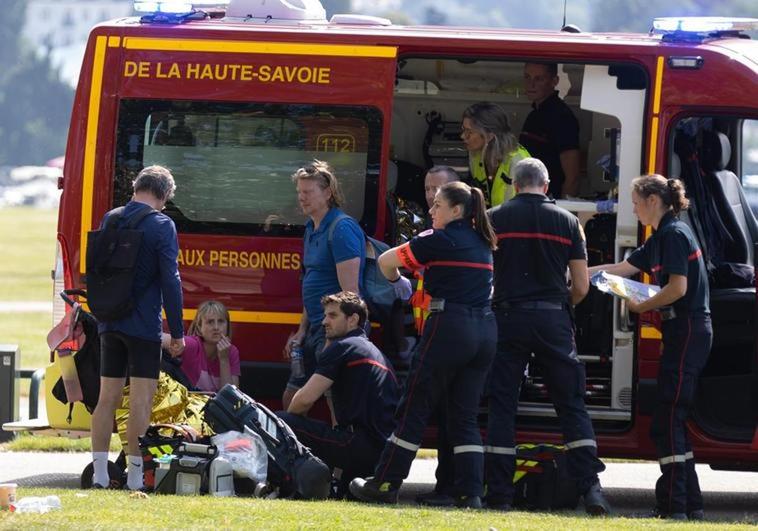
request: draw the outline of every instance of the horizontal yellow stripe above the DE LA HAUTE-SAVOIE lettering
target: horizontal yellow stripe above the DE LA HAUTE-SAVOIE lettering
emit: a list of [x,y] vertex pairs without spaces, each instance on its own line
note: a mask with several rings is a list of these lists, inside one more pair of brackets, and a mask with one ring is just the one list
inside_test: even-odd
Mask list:
[[251,53],[275,55],[321,55],[333,57],[377,57],[394,59],[394,46],[359,46],[352,44],[300,44],[292,42],[214,41],[200,39],[156,39],[124,37],[128,50],[175,52]]

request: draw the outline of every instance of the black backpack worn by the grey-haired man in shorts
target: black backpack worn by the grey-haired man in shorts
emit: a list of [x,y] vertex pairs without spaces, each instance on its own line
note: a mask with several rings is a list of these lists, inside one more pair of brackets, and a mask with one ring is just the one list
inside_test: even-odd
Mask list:
[[87,240],[87,302],[98,321],[115,321],[135,307],[134,273],[143,231],[135,227],[158,211],[147,205],[119,228],[124,207],[106,214],[103,227],[89,231]]

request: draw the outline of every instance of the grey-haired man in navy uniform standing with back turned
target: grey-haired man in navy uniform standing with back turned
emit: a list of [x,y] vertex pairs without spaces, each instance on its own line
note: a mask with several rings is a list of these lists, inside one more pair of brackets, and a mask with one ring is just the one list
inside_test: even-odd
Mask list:
[[[590,514],[607,514],[597,474],[592,422],[584,405],[585,372],[574,344],[570,305],[589,290],[584,233],[576,216],[545,194],[545,165],[526,158],[513,170],[517,195],[488,211],[499,240],[493,309],[497,355],[490,380],[487,428],[487,505],[508,510],[516,467],[515,423],[524,369],[534,354],[560,420],[568,472]],[[571,287],[566,283],[566,269]]]

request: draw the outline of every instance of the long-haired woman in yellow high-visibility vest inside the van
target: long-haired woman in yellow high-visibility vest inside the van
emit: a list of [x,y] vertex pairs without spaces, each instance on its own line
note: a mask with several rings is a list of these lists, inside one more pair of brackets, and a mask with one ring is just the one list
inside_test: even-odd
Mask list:
[[461,140],[469,152],[473,184],[484,192],[487,206],[497,206],[516,195],[511,167],[529,157],[529,152],[511,133],[503,108],[483,101],[463,111]]

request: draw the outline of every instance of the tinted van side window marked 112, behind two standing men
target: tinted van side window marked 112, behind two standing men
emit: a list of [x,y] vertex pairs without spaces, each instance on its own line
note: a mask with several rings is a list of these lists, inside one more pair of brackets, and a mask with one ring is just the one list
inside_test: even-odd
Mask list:
[[370,107],[123,100],[114,205],[145,166],[171,169],[166,213],[180,232],[296,235],[303,216],[292,173],[320,159],[335,170],[345,210],[374,225],[382,121]]

